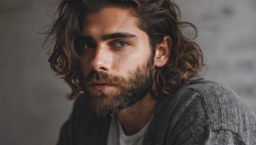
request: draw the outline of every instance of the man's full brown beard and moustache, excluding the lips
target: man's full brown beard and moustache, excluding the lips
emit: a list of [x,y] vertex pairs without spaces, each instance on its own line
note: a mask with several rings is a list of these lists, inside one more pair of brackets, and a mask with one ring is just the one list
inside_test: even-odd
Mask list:
[[[154,57],[145,64],[127,72],[127,77],[113,76],[107,72],[92,71],[83,79],[83,92],[88,97],[89,104],[99,116],[114,116],[122,113],[127,107],[143,99],[152,89]],[[95,90],[88,85],[93,81],[104,81],[115,87],[109,90]]]

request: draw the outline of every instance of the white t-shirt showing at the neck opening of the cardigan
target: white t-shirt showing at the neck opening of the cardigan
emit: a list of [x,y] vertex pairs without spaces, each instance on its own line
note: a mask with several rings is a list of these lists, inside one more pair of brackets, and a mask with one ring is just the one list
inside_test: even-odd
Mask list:
[[151,119],[140,132],[127,136],[124,134],[120,121],[113,116],[109,128],[107,145],[141,145]]

